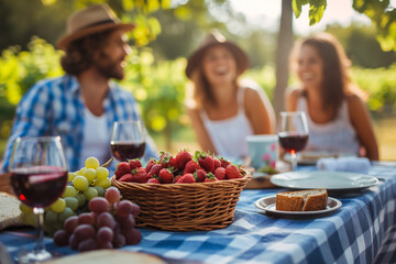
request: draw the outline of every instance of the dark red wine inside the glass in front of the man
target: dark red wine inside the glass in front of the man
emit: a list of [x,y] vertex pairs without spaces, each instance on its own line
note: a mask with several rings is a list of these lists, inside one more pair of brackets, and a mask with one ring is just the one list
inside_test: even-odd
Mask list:
[[128,160],[141,158],[144,154],[145,142],[111,142],[111,152],[113,156],[121,161],[127,162]]

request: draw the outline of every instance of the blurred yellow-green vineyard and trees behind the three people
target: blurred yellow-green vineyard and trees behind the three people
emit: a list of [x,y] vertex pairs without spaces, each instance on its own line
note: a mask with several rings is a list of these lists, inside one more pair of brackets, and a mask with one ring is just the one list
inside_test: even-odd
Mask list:
[[[184,109],[184,69],[186,57],[210,29],[219,29],[250,54],[252,67],[244,76],[274,98],[278,32],[249,24],[228,0],[1,0],[1,155],[22,96],[37,80],[63,74],[58,63],[62,52],[54,45],[65,32],[67,16],[92,2],[108,2],[122,20],[139,25],[131,35],[133,54],[121,84],[140,101],[160,150],[198,148]],[[243,30],[232,31],[232,24]],[[381,158],[396,160],[396,53],[382,51],[374,25],[331,24],[326,31],[343,44],[352,61],[353,80],[369,95]],[[293,35],[294,40],[298,37]],[[295,81],[290,76],[288,82]]]

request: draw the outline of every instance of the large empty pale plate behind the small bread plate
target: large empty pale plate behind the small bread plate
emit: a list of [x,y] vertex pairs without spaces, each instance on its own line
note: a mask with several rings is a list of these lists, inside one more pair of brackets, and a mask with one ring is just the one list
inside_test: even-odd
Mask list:
[[276,174],[271,183],[292,189],[326,188],[329,191],[355,191],[378,184],[378,179],[365,174],[344,172],[289,172]]

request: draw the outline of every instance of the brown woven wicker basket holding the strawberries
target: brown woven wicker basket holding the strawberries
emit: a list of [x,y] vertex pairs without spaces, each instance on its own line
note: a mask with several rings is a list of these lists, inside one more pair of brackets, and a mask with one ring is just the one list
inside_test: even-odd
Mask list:
[[252,175],[241,170],[243,178],[197,184],[111,184],[123,199],[138,204],[139,228],[168,231],[213,230],[228,227],[243,187]]

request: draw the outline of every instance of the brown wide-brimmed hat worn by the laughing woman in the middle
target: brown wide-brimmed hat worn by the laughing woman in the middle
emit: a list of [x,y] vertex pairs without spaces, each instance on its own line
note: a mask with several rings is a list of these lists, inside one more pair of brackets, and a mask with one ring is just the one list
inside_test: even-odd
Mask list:
[[241,75],[244,70],[249,68],[250,62],[246,53],[242,51],[237,44],[228,42],[220,32],[212,31],[205,38],[198,50],[188,58],[186,67],[186,75],[188,78],[191,78],[193,72],[201,63],[201,59],[207,48],[213,45],[226,45],[232,52],[237,61],[238,75]]

